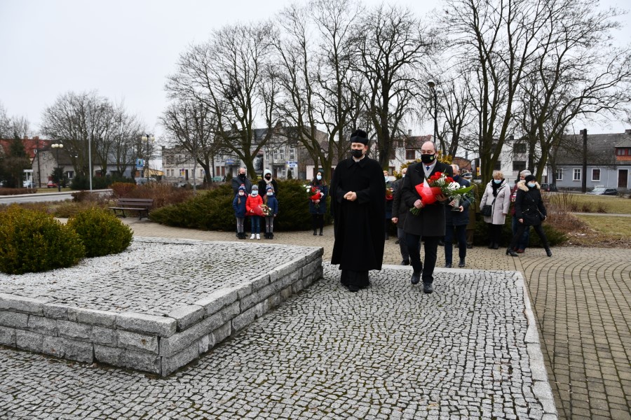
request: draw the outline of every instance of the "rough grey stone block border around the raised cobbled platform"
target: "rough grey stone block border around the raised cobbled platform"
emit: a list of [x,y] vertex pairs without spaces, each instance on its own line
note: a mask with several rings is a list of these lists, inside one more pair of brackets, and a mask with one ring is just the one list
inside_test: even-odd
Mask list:
[[0,293],[0,344],[167,376],[321,279],[323,248],[165,316]]

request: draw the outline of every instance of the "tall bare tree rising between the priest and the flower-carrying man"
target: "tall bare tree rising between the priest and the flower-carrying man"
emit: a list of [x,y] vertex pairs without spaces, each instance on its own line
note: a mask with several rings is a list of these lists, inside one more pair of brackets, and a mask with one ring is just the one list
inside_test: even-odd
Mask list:
[[393,139],[402,136],[402,122],[412,116],[432,43],[419,19],[398,6],[374,8],[355,29],[351,63],[367,81],[367,92],[357,92],[357,97],[374,127],[379,163],[385,168]]

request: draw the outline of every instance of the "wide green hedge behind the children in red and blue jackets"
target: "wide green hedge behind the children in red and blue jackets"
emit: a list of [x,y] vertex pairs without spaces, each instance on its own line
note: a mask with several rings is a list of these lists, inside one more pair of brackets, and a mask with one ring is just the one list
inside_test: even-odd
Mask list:
[[[274,221],[274,231],[287,232],[311,228],[308,195],[302,181],[278,181],[276,198],[279,211]],[[231,185],[226,183],[215,190],[200,193],[186,202],[153,210],[149,218],[151,221],[179,228],[230,232],[236,229],[233,199]],[[328,200],[327,203],[330,203]]]

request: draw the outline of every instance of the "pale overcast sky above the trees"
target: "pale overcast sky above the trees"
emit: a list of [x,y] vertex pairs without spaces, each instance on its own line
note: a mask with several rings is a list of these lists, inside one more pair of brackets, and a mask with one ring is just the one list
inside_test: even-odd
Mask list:
[[[602,5],[627,2],[602,0]],[[395,3],[428,16],[440,0]],[[207,40],[212,29],[226,24],[272,18],[288,4],[289,0],[0,0],[0,104],[8,116],[28,118],[38,133],[43,110],[60,94],[97,90],[115,102],[124,101],[159,141],[158,116],[167,104],[165,76],[175,70],[187,45]],[[631,25],[616,38],[620,45],[631,40]],[[590,133],[625,128],[616,121],[609,127],[585,126]],[[414,134],[428,134],[432,124],[410,128]]]

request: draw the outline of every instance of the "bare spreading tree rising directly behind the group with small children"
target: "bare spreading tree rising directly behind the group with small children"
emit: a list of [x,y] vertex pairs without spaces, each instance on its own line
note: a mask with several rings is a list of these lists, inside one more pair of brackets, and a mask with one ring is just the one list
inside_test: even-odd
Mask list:
[[[278,118],[278,85],[269,59],[275,36],[269,23],[214,31],[210,41],[192,45],[179,57],[177,72],[166,84],[172,98],[208,106],[217,141],[242,160],[252,179],[256,177],[252,160],[271,138]],[[267,130],[255,144],[258,118]]]

